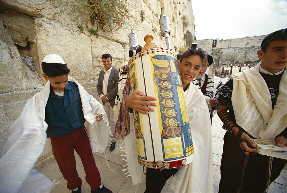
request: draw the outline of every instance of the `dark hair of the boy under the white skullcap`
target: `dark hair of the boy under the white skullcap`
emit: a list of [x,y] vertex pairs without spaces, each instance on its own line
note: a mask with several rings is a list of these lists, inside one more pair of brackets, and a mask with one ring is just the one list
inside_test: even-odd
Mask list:
[[46,62],[42,62],[42,70],[49,78],[70,74],[71,72],[71,70],[67,67],[67,64]]

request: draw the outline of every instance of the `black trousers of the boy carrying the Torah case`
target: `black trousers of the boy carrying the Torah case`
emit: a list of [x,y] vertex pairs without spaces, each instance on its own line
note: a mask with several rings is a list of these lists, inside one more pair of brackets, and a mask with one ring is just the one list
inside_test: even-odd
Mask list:
[[145,193],[160,193],[165,182],[170,176],[177,173],[178,169],[146,169],[146,191]]

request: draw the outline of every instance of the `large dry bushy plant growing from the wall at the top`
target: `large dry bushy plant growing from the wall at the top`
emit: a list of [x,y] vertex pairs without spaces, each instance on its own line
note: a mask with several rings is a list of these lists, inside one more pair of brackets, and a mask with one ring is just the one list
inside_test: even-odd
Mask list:
[[[134,6],[130,5],[126,0],[54,0],[46,1],[58,8],[55,14],[69,13],[75,16],[75,20],[79,21],[79,14],[86,14],[86,21],[98,23],[102,29],[108,34],[121,28],[137,28],[137,20],[134,17]],[[38,11],[45,8],[37,9]],[[131,22],[132,21],[132,22]],[[78,28],[83,32],[84,28],[81,24]]]

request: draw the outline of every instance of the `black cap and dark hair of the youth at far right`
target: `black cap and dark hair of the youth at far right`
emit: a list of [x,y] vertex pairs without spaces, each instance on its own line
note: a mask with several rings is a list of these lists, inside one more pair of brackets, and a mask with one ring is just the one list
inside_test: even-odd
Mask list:
[[268,34],[261,42],[260,49],[265,53],[269,43],[275,40],[287,40],[287,28]]

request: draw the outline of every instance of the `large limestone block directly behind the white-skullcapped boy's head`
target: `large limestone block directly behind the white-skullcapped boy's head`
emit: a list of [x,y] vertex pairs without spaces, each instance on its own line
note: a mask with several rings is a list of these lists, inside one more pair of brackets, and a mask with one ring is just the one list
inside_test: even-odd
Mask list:
[[45,55],[58,54],[71,69],[71,77],[79,82],[94,78],[90,36],[47,18],[36,18],[35,28],[40,63]]

